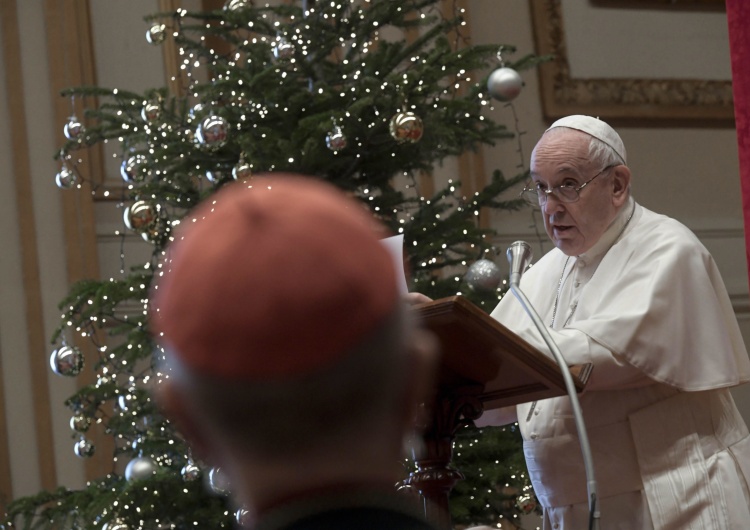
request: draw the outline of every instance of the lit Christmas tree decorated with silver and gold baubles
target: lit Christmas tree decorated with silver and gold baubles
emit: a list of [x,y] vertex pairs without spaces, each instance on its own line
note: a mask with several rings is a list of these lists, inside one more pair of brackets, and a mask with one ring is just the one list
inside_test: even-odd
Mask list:
[[[325,179],[403,236],[412,290],[464,294],[485,309],[503,290],[483,212],[521,208],[511,188],[526,174],[496,170],[471,194],[431,175],[449,157],[513,136],[487,111],[518,94],[517,72],[538,58],[506,64],[511,45],[470,45],[462,10],[440,0],[229,0],[147,22],[149,42],[178,47],[182,82],[144,94],[66,91],[90,104],[64,124],[56,177],[65,193],[96,193],[99,181],[79,171],[80,153],[116,144],[124,225],[149,245],[150,259],[121,277],[73,286],[53,337],[50,363],[62,376],[81,372],[82,339],[94,345],[85,362],[95,381],[67,405],[75,454],[93,454],[89,433],[99,429],[114,441],[112,470],[81,490],[17,499],[5,528],[224,528],[241,519],[220,470],[192,460],[149,393],[160,377],[148,331],[151,281],[172,229],[227,182],[262,172]],[[469,478],[456,488],[454,519],[512,520],[533,506],[518,435],[477,436],[459,433],[456,462]]]

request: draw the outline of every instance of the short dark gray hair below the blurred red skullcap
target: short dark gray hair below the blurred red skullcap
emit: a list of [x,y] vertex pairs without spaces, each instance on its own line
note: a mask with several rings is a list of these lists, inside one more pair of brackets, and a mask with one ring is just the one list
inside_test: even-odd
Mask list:
[[[197,373],[167,355],[174,384],[217,436],[269,458],[304,454],[403,418],[412,318],[401,303],[333,366],[281,380]],[[346,325],[332,323],[332,325]]]

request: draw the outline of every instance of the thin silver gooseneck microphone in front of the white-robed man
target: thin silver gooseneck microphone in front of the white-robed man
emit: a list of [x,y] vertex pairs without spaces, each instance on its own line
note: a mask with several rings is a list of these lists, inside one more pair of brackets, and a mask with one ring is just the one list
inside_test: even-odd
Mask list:
[[552,356],[560,366],[563,380],[565,381],[565,388],[570,397],[571,408],[573,409],[573,418],[575,420],[576,429],[578,430],[578,439],[581,445],[581,453],[583,455],[583,467],[586,471],[586,488],[589,496],[589,530],[599,530],[599,509],[597,507],[597,486],[596,478],[594,477],[594,459],[591,456],[591,445],[589,444],[588,433],[586,432],[586,425],[583,421],[583,413],[581,412],[581,404],[578,401],[578,394],[576,393],[575,384],[573,383],[573,377],[570,375],[570,369],[568,368],[565,358],[560,352],[555,341],[552,339],[549,330],[542,322],[539,314],[536,312],[534,307],[526,298],[526,295],[521,291],[519,282],[521,280],[521,274],[526,269],[531,261],[531,247],[525,241],[516,241],[507,251],[508,261],[510,262],[510,290],[513,295],[518,299],[523,307],[526,314],[529,315],[531,320],[534,322],[539,333],[542,335],[544,342],[547,343]]

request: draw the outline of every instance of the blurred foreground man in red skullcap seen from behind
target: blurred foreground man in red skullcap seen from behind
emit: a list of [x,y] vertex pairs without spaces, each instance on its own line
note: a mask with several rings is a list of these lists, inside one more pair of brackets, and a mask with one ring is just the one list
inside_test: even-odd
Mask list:
[[157,397],[248,526],[428,530],[394,487],[433,342],[373,218],[284,175],[228,185],[190,217],[152,294],[170,368]]

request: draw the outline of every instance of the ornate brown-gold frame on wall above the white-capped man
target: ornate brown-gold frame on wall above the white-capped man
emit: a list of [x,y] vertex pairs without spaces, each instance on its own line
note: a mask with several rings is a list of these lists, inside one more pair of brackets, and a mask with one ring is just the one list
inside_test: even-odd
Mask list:
[[529,4],[536,51],[552,56],[539,66],[545,119],[588,114],[618,125],[734,126],[731,81],[571,77],[560,0]]

